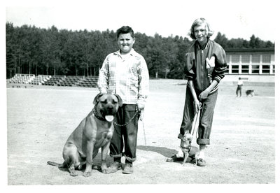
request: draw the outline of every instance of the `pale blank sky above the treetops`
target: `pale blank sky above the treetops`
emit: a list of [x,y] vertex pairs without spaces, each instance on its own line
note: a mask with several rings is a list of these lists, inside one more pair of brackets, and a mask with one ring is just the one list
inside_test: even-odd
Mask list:
[[208,20],[211,28],[230,38],[263,41],[276,39],[276,0],[99,0],[5,2],[6,22],[48,29],[116,31],[129,25],[136,32],[153,36],[188,37],[193,21]]

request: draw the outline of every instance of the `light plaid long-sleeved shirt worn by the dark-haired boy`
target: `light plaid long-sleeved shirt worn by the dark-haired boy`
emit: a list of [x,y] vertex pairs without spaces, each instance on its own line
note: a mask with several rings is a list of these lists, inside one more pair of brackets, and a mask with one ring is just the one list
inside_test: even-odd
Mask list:
[[106,57],[99,71],[98,88],[102,93],[118,94],[126,104],[145,104],[148,97],[148,68],[144,57],[131,50],[122,57],[120,51]]

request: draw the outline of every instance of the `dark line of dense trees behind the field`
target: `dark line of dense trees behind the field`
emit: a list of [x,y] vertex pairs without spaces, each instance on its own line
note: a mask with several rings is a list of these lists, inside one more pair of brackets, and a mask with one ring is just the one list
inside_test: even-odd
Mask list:
[[[144,56],[151,78],[183,78],[184,55],[193,43],[186,37],[135,33],[134,49]],[[226,38],[218,32],[214,39],[227,48],[274,48],[271,41],[251,36]],[[118,50],[116,32],[72,31],[52,26],[41,29],[6,22],[6,75],[15,73],[66,76],[98,76],[99,69],[111,52]]]

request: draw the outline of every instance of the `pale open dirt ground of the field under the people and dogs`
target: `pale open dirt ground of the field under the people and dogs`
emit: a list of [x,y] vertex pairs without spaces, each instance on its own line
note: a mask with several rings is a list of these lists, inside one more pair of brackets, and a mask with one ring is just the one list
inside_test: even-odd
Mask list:
[[[179,127],[186,85],[182,80],[151,80],[144,125],[139,122],[134,173],[92,171],[77,177],[47,164],[62,163],[69,134],[92,110],[97,88],[7,86],[8,185],[274,184],[274,87],[220,85],[207,166],[166,162],[179,150]],[[246,97],[254,89],[257,96]],[[144,126],[144,127],[143,127]],[[146,134],[146,144],[144,138]],[[99,165],[100,153],[94,159]],[[107,157],[107,164],[111,164]]]

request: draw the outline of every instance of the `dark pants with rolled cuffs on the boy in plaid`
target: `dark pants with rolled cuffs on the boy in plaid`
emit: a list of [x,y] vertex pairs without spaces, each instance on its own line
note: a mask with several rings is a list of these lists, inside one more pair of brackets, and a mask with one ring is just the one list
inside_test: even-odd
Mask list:
[[[118,108],[118,113],[114,118],[114,122],[118,124],[125,124],[129,122],[135,115],[137,105],[135,104],[123,104],[122,107]],[[111,157],[122,157],[123,147],[125,146],[125,158],[129,162],[136,160],[137,150],[137,132],[138,132],[138,117],[134,117],[132,122],[129,122],[125,126],[118,126],[114,124],[115,131],[111,139],[110,155]]]

